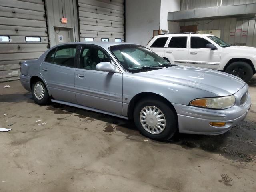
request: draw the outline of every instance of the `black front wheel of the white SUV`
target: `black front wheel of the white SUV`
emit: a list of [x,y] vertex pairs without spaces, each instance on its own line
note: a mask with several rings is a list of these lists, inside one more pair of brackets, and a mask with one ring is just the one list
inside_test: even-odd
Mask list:
[[226,68],[225,72],[240,77],[246,83],[248,83],[253,76],[252,67],[250,64],[243,61],[236,61],[231,63]]

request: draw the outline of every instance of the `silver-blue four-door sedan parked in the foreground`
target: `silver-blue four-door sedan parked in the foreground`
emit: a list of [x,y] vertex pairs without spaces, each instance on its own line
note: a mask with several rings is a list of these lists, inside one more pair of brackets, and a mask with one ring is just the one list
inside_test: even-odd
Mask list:
[[173,65],[148,50],[115,42],[74,42],[21,65],[20,81],[37,104],[50,101],[133,119],[155,140],[177,132],[215,135],[242,121],[251,106],[236,76]]

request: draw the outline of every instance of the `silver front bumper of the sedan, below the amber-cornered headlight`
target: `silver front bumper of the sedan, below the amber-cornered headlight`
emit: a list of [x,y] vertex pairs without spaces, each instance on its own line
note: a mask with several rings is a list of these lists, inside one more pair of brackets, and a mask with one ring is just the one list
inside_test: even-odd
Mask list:
[[[246,84],[241,90],[236,92],[236,104],[228,109],[214,110],[199,108],[194,106],[186,106],[173,104],[178,115],[178,124],[180,133],[218,135],[222,134],[232,126],[238,124],[246,118],[251,106],[250,94],[248,94],[246,103],[241,106],[240,99],[242,95],[248,91]],[[211,126],[210,122],[226,122],[225,126]]]

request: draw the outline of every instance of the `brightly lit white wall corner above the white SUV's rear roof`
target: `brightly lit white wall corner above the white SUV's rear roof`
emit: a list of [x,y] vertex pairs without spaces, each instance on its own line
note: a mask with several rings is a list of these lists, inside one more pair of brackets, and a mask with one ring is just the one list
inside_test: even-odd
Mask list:
[[[161,0],[161,8],[160,8],[160,29],[161,30],[168,30],[168,12],[174,12],[180,10],[180,0]],[[180,28],[178,25],[175,24],[169,24],[171,29],[169,29],[169,32],[171,31],[180,31]],[[177,28],[178,27],[178,28]]]

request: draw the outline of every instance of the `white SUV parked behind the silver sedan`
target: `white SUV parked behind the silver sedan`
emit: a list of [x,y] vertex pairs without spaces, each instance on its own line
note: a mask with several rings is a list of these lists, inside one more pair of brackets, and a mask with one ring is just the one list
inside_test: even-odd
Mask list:
[[147,48],[173,64],[222,70],[249,82],[256,73],[256,48],[231,46],[208,34],[163,34]]

